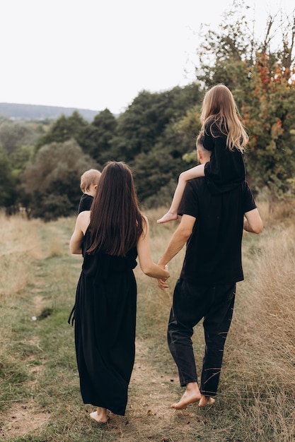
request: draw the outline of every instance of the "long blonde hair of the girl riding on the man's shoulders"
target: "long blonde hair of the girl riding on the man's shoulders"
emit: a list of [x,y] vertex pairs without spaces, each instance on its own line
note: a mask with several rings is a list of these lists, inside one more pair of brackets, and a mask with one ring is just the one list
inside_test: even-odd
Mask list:
[[[209,126],[212,136],[213,124],[226,135],[226,146],[243,151],[248,143],[248,134],[239,119],[239,112],[233,94],[226,85],[216,85],[206,92],[202,103],[202,129]],[[216,136],[216,135],[215,135]]]

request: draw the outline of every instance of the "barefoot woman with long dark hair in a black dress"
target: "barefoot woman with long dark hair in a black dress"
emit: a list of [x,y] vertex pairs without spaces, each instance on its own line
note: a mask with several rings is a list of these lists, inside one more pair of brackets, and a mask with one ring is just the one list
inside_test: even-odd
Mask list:
[[[149,223],[137,203],[132,172],[123,162],[103,169],[91,210],[81,212],[70,241],[83,254],[76,303],[76,358],[83,402],[90,415],[107,422],[107,410],[125,414],[134,364],[137,285],[133,268],[166,280],[151,259]],[[165,285],[165,288],[168,285]]]

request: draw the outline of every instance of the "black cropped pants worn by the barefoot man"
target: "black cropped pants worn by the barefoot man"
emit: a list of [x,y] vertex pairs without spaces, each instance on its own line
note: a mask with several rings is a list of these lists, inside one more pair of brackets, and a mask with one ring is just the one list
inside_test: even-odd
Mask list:
[[181,386],[198,382],[191,337],[193,327],[204,318],[206,346],[199,389],[203,395],[216,395],[235,292],[235,284],[200,287],[182,279],[176,283],[167,335]]

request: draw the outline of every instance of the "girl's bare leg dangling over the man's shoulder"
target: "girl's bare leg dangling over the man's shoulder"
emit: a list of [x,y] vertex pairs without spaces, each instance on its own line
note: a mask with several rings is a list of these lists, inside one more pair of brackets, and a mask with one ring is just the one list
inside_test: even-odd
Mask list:
[[192,169],[185,170],[182,172],[178,179],[178,185],[175,189],[172,203],[168,212],[161,217],[157,222],[158,224],[163,224],[163,222],[177,220],[178,208],[180,205],[181,198],[183,198],[183,192],[185,191],[185,186],[187,181],[193,178],[204,177],[204,165],[197,165],[192,167]]

